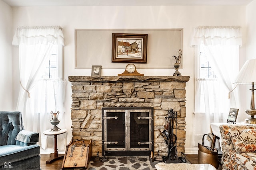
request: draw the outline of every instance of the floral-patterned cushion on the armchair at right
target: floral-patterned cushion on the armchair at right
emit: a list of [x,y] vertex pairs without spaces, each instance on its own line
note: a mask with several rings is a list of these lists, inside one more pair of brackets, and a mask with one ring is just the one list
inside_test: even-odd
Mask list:
[[230,129],[230,137],[236,152],[256,151],[256,130],[254,129]]

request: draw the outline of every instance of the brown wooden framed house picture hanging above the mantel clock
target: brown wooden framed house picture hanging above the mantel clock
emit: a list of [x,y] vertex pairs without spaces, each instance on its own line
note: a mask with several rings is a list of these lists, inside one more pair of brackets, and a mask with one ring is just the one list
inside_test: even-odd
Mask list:
[[112,63],[147,63],[148,34],[112,33]]

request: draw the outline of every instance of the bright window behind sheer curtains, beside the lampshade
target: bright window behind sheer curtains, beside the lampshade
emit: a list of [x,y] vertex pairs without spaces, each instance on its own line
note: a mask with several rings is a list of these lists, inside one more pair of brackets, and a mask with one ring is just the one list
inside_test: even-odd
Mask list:
[[238,73],[239,47],[198,45],[197,53],[195,112],[208,114],[210,122],[224,122],[234,107],[228,94]]

